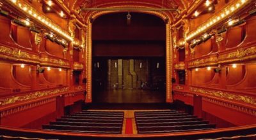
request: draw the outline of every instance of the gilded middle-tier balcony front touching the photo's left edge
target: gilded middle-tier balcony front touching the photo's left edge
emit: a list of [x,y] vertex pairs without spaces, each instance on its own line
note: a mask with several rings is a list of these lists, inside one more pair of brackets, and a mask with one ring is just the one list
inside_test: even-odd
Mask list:
[[0,59],[24,61],[29,63],[39,64],[39,56],[24,52],[18,48],[0,46]]

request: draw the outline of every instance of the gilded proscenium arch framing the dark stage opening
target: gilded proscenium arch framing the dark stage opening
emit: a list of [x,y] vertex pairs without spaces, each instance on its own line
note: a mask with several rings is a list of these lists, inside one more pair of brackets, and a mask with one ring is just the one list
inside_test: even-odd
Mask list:
[[[119,6],[124,7],[124,6]],[[129,6],[131,7],[131,6]],[[133,6],[134,7],[134,6]],[[90,18],[87,21],[86,27],[86,48],[85,48],[85,59],[86,59],[86,100],[85,102],[92,102],[92,23],[91,19],[100,17],[101,15],[109,13],[120,13],[124,11],[95,11],[91,13]],[[164,13],[158,11],[136,11],[137,13],[147,13],[155,15],[163,20],[167,20],[166,23],[166,102],[172,102],[172,39],[171,39],[171,27],[170,17]]]

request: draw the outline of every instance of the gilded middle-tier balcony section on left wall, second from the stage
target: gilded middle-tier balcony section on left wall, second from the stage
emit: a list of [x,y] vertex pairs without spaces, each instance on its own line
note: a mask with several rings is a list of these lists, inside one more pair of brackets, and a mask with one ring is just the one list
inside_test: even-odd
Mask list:
[[54,67],[65,67],[70,68],[70,64],[67,60],[55,59],[48,56],[40,57],[40,65],[42,66],[54,66]]

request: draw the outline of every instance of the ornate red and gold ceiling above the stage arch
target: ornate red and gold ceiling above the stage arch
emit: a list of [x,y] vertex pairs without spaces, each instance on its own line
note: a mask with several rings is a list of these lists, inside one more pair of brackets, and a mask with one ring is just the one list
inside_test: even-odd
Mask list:
[[[193,1],[195,0],[67,0],[67,3],[69,3],[72,11],[80,15],[83,21],[86,22],[99,11],[86,11],[81,10],[81,8],[174,8],[177,11],[151,12],[151,14],[158,16],[162,14],[164,16],[159,17],[172,20],[179,16],[180,12],[186,10]],[[147,11],[141,12],[150,13]],[[109,13],[109,11],[105,11],[105,13]]]

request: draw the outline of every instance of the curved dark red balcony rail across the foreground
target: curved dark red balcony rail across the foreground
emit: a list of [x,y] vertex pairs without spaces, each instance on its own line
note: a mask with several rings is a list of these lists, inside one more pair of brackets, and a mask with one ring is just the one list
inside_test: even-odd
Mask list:
[[77,132],[56,132],[52,130],[31,130],[31,129],[21,129],[13,127],[0,127],[1,134],[16,135],[20,134],[22,136],[37,136],[42,138],[56,138],[61,137],[61,139],[84,139],[87,138],[101,138],[109,139],[111,138],[124,138],[124,139],[134,139],[134,138],[161,138],[161,139],[201,139],[201,138],[213,138],[220,136],[236,136],[237,134],[255,134],[256,125],[246,125],[240,127],[230,127],[225,129],[211,129],[211,130],[198,130],[193,132],[173,132],[170,134],[84,134]]

